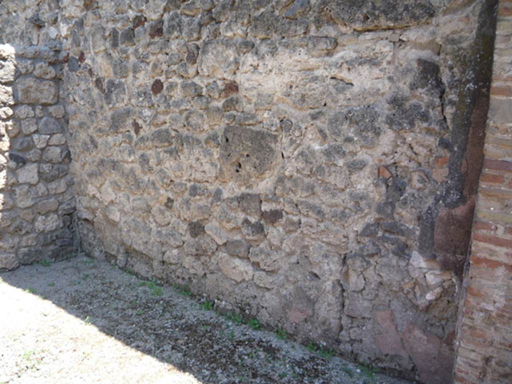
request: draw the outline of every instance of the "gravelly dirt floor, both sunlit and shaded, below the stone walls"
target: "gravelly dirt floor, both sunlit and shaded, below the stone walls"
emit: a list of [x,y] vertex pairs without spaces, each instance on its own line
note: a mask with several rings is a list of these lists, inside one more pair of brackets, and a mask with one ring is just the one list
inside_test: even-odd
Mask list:
[[0,384],[406,384],[76,257],[0,273]]

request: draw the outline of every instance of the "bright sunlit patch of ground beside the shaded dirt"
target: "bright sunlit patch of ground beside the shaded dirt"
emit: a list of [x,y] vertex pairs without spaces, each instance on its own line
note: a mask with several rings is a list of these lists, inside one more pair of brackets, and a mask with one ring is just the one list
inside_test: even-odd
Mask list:
[[0,383],[201,382],[34,293],[0,283]]

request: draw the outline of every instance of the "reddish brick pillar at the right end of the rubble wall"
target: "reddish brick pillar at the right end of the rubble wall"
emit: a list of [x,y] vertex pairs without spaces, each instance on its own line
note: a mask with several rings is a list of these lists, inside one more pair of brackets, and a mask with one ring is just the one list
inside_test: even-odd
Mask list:
[[459,315],[454,382],[512,383],[512,0],[500,0],[493,79]]

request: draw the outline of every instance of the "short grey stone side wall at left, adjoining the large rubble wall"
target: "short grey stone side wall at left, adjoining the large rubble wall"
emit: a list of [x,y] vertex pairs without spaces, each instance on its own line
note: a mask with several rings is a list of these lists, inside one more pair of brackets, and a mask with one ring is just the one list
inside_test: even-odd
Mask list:
[[58,49],[0,45],[0,269],[74,248],[61,77]]

